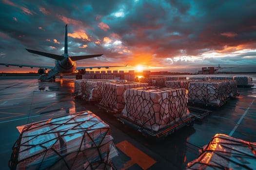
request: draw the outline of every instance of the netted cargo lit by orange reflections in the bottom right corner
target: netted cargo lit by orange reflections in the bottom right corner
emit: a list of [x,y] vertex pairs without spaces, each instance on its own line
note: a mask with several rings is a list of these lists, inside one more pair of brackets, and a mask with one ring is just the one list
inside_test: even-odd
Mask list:
[[199,157],[187,164],[187,170],[254,170],[255,167],[256,142],[224,134],[216,134]]

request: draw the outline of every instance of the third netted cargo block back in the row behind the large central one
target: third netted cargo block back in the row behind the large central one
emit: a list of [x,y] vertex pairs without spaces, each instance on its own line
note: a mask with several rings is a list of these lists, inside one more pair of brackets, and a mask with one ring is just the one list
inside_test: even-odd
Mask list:
[[82,99],[86,101],[99,101],[102,98],[104,83],[112,82],[111,80],[88,80],[85,82],[85,87]]

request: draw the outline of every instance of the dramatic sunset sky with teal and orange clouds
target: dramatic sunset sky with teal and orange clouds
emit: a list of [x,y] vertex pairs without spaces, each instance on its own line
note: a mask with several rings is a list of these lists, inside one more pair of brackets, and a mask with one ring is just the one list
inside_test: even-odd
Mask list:
[[25,48],[63,54],[68,24],[71,56],[104,54],[78,66],[256,71],[256,0],[1,0],[0,18],[0,63],[54,66]]

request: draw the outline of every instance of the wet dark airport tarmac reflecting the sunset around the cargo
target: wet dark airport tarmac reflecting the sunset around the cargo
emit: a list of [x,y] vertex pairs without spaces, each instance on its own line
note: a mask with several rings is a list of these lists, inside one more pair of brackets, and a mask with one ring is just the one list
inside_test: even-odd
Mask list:
[[238,98],[221,108],[211,108],[212,113],[195,121],[193,127],[183,127],[164,140],[153,140],[121,124],[95,103],[75,99],[74,78],[63,77],[56,82],[38,82],[37,78],[0,78],[1,170],[9,169],[12,146],[20,136],[17,126],[84,110],[92,111],[110,125],[119,152],[113,159],[118,170],[183,170],[197,158],[199,147],[217,133],[256,142],[256,86],[238,88]]

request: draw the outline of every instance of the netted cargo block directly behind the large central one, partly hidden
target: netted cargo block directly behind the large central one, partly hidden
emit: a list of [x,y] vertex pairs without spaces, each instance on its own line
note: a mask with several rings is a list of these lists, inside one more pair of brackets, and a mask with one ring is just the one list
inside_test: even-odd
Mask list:
[[113,112],[121,112],[124,108],[124,92],[126,89],[148,86],[147,83],[116,82],[103,85],[102,99],[99,106]]

